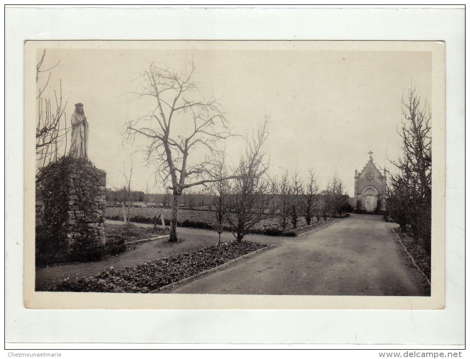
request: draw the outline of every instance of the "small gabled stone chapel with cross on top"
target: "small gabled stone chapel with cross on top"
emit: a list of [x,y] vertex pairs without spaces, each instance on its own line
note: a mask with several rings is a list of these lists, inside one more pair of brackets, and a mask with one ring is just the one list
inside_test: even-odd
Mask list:
[[369,162],[361,172],[354,176],[354,209],[374,212],[385,210],[385,191],[387,187],[387,170],[383,174],[375,166],[369,151]]

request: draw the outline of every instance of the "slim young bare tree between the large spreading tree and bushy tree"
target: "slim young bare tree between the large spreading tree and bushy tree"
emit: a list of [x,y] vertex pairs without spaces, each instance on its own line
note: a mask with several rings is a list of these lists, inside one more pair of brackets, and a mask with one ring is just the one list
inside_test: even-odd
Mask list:
[[226,228],[227,216],[229,215],[230,186],[229,180],[224,179],[228,177],[225,157],[225,152],[223,152],[216,162],[213,177],[219,180],[212,184],[210,190],[212,194],[212,206],[215,208],[215,223],[213,224],[213,227],[219,235],[219,248],[220,235]]

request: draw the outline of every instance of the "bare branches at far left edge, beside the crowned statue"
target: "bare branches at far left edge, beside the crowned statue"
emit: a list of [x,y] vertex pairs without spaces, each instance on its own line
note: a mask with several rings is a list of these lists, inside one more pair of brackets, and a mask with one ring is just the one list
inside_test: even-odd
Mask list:
[[44,69],[46,50],[43,51],[41,60],[36,64],[36,84],[40,80],[40,74],[48,72],[49,75],[44,85],[38,85],[37,99],[37,121],[36,121],[36,170],[56,161],[62,148],[64,154],[67,151],[67,118],[65,114],[67,102],[62,102],[62,82],[59,93],[54,90],[54,99],[44,98],[52,70],[59,65]]

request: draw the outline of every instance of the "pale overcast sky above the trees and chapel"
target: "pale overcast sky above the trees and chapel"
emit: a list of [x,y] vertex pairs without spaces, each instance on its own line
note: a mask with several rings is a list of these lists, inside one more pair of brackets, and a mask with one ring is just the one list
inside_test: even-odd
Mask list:
[[[312,168],[322,189],[336,174],[350,196],[354,170],[362,170],[369,150],[381,168],[387,157],[399,156],[401,99],[412,81],[422,101],[431,104],[431,52],[373,51],[370,46],[355,50],[337,44],[326,49],[314,42],[117,44],[62,43],[61,48],[47,48],[43,65],[60,60],[44,95],[50,97],[62,81],[68,123],[74,104],[84,104],[89,156],[106,171],[110,188],[124,184],[121,171],[129,167],[125,123],[153,110],[143,108],[133,93],[138,74],[151,61],[179,71],[193,60],[201,94],[219,99],[236,134],[249,133],[253,123],[268,115],[271,174],[288,169],[306,176]],[[38,49],[37,57],[41,54]],[[42,74],[38,85],[46,80],[47,73]],[[232,159],[242,147],[243,137],[228,141]],[[201,154],[195,153],[194,160]],[[148,183],[151,191],[160,192],[163,185],[155,183],[155,170],[145,166],[141,154],[134,155],[134,164],[140,167],[134,189],[145,190]]]

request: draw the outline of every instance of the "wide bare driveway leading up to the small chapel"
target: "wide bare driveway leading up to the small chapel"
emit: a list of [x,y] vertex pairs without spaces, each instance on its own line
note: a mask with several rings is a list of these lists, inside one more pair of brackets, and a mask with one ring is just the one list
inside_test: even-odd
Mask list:
[[169,292],[429,296],[429,285],[392,232],[396,226],[381,216],[352,214]]

